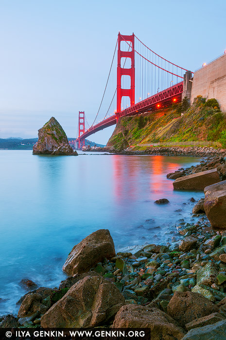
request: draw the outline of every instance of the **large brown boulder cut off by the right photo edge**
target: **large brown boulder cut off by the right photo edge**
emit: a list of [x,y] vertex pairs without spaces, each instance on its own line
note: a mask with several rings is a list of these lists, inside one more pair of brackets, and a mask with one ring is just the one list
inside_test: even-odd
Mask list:
[[226,181],[205,187],[204,209],[213,229],[226,229]]

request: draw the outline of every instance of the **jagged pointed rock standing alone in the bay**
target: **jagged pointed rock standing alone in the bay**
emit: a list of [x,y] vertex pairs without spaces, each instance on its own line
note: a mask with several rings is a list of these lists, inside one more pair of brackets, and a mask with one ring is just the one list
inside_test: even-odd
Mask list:
[[62,126],[52,117],[38,130],[38,141],[33,147],[33,154],[74,155]]

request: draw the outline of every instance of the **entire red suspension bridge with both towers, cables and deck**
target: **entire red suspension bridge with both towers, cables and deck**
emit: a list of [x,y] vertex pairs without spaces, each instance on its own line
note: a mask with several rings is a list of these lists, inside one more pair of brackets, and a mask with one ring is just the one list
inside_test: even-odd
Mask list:
[[85,112],[79,112],[77,147],[83,147],[88,136],[116,124],[120,117],[139,115],[180,102],[187,71],[149,49],[135,34],[119,33],[93,123],[89,125]]

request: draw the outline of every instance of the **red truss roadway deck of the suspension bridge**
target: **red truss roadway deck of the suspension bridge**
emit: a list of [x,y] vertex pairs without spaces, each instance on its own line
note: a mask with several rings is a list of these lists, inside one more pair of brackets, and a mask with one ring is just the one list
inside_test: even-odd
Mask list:
[[[96,125],[91,126],[83,135],[80,136],[80,140],[87,138],[88,136],[95,134],[106,127],[117,123],[118,118],[123,116],[135,116],[146,112],[147,110],[159,109],[163,106],[172,104],[173,102],[181,102],[183,92],[183,82],[177,83],[161,92],[156,93],[154,96],[148,97],[147,99],[138,102],[127,109],[117,113],[107,119],[102,120]],[[159,105],[159,106],[158,106]]]

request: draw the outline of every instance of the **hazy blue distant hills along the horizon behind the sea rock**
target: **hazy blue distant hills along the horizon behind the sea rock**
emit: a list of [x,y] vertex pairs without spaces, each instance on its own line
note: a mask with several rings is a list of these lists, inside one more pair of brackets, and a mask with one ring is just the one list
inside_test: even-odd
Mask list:
[[[69,141],[75,140],[76,138],[68,138]],[[0,138],[0,149],[8,149],[8,150],[32,150],[33,145],[37,142],[38,138]],[[73,144],[73,143],[71,143]],[[91,142],[87,139],[85,139],[85,144],[90,146],[100,146],[104,147],[102,144],[96,144],[94,142]]]

